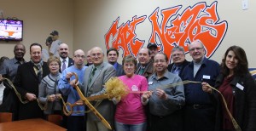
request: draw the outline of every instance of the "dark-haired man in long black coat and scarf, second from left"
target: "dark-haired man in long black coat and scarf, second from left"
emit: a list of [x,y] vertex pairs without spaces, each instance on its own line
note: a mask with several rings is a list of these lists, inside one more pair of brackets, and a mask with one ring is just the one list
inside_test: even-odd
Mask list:
[[49,74],[49,66],[41,58],[42,46],[32,43],[30,46],[31,60],[19,65],[15,77],[15,87],[26,104],[19,104],[19,120],[43,118],[44,112],[39,108],[38,86],[43,77]]

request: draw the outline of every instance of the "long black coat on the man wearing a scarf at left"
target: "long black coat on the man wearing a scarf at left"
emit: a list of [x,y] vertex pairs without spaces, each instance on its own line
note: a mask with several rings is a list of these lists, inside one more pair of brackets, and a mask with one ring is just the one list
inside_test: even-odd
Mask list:
[[[49,67],[44,62],[43,77],[49,74]],[[19,65],[18,71],[15,77],[15,87],[21,95],[21,98],[25,98],[26,93],[36,94],[38,97],[38,77],[33,69],[32,62]],[[23,99],[24,100],[24,99]],[[37,100],[30,101],[26,104],[20,102],[19,119],[28,118],[43,118],[43,111],[39,108]]]

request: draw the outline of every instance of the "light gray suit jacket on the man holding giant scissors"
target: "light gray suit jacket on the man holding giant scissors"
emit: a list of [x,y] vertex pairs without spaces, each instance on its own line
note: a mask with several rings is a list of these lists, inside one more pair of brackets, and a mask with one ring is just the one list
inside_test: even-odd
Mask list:
[[[115,77],[116,71],[113,65],[108,63],[102,63],[98,66],[94,77],[92,77],[90,84],[88,84],[90,72],[94,65],[90,65],[85,69],[84,73],[84,96],[88,97],[91,94],[99,95],[105,93],[103,85],[108,81],[110,77]],[[110,100],[102,100],[102,103],[96,107],[96,110],[102,114],[108,122],[113,123],[113,103]],[[87,116],[92,121],[100,121],[94,113],[90,112]]]

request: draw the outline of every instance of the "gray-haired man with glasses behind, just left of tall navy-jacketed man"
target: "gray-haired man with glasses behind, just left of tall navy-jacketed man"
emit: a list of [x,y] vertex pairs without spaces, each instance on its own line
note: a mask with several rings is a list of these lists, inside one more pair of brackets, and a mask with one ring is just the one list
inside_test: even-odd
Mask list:
[[176,46],[172,48],[172,64],[168,65],[168,71],[173,74],[177,74],[180,76],[184,67],[189,65],[189,61],[185,59],[184,48],[180,46]]

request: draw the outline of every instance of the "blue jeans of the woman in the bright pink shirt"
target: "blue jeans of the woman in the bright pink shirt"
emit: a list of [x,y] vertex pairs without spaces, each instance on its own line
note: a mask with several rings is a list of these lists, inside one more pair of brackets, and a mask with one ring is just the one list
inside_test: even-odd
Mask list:
[[145,131],[147,128],[147,122],[138,124],[125,124],[122,122],[114,122],[117,131]]

